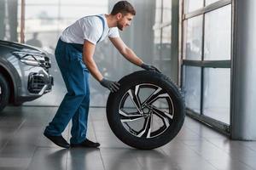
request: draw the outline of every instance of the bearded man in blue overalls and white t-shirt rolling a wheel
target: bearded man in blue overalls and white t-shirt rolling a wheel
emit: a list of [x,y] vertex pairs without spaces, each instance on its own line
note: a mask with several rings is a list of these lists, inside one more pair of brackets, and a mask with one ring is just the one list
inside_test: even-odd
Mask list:
[[[67,87],[67,94],[61,102],[52,122],[45,128],[44,135],[55,144],[68,147],[99,147],[100,144],[86,139],[87,118],[90,103],[88,84],[89,72],[103,87],[112,93],[119,90],[119,83],[102,77],[93,59],[96,43],[109,37],[125,59],[143,67],[157,71],[153,65],[146,65],[142,59],[128,48],[119,37],[119,31],[131,25],[136,14],[131,3],[120,1],[113,6],[111,14],[86,16],[77,20],[61,33],[55,49],[55,58]],[[61,136],[72,119],[70,144]]]

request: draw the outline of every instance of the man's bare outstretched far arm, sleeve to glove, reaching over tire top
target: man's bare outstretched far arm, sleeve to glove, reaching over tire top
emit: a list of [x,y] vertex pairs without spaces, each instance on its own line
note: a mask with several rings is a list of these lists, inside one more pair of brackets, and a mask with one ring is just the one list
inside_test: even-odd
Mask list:
[[117,48],[125,59],[128,59],[134,65],[142,66],[143,60],[138,58],[137,55],[125,45],[125,42],[120,37],[109,37],[109,40],[113,43],[113,46]]

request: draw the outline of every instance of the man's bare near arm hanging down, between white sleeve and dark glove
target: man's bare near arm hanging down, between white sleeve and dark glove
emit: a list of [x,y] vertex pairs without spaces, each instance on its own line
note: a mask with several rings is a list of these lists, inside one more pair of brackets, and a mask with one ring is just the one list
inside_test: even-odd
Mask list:
[[84,60],[84,64],[86,65],[86,67],[88,68],[88,70],[90,71],[90,74],[95,77],[95,79],[98,82],[101,82],[103,77],[102,77],[102,73],[99,71],[95,60],[93,59],[93,54],[95,52],[95,44],[84,40],[84,49],[83,49],[83,60]]

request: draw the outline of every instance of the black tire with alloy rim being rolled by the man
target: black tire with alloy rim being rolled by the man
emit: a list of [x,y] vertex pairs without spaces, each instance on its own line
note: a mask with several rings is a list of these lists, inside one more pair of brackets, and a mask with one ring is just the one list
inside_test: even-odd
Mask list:
[[[177,85],[156,71],[136,71],[120,79],[119,83],[119,91],[109,94],[107,102],[108,123],[117,138],[131,147],[143,150],[170,142],[183,126],[185,116],[183,95]],[[141,100],[143,90],[147,88],[152,88],[154,92],[150,94],[151,97],[149,95]],[[125,106],[127,99],[131,100],[133,108]],[[168,108],[165,111],[155,106],[154,103],[162,102],[158,100],[166,101]],[[136,111],[129,112],[131,109]],[[154,126],[161,124],[154,123],[155,120],[160,120],[163,125],[153,131]],[[143,126],[135,130],[129,123],[135,125],[134,128],[139,127],[139,123]]]

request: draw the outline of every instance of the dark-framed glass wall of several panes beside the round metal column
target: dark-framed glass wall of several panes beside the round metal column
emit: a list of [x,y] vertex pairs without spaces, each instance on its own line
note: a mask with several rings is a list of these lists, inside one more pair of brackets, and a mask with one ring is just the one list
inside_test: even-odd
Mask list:
[[196,117],[229,125],[231,1],[184,0],[183,8],[186,106]]

